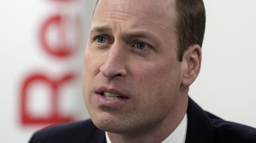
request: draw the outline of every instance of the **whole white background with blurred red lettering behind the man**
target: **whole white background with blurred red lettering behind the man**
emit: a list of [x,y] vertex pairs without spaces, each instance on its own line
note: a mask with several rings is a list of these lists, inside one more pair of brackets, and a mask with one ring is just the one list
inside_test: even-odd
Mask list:
[[[89,118],[83,55],[96,0],[0,2],[0,142]],[[203,109],[256,127],[255,0],[204,0],[202,69],[189,95]]]

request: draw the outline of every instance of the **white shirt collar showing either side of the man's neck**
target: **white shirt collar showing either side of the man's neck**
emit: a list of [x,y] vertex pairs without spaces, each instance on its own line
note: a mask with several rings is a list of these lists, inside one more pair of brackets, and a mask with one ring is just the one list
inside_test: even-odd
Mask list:
[[[185,143],[187,134],[187,113],[179,123],[178,127],[162,143]],[[111,143],[107,132],[105,132],[107,143]]]

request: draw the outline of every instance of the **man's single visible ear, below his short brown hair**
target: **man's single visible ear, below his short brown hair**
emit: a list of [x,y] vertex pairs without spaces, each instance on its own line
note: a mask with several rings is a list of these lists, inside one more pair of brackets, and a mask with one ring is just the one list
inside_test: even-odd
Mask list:
[[198,76],[201,68],[202,51],[199,45],[194,44],[189,47],[183,54],[182,81],[181,85],[191,85]]

